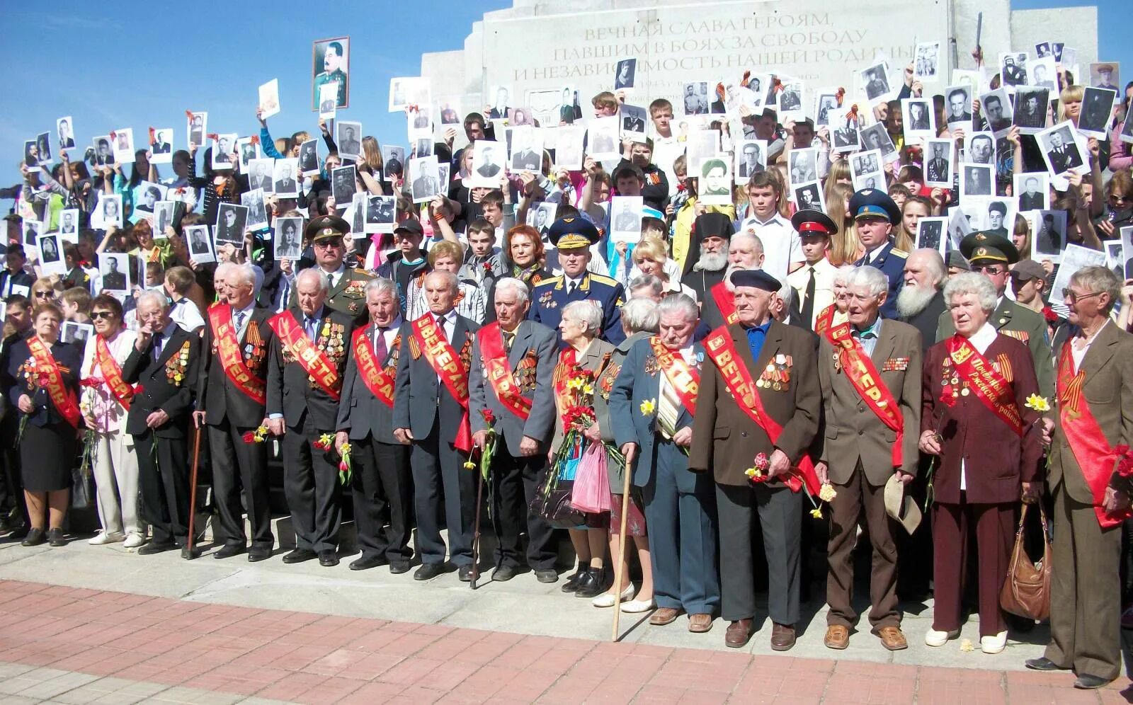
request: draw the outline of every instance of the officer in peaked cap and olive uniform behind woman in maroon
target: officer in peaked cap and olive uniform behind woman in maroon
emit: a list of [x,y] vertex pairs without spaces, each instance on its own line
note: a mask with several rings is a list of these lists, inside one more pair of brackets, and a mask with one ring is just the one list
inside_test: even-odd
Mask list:
[[[971,263],[973,272],[980,272],[995,284],[999,303],[988,316],[988,323],[1004,335],[1011,335],[1023,342],[1031,350],[1034,374],[1039,379],[1039,393],[1047,399],[1053,399],[1055,366],[1050,341],[1047,340],[1047,322],[1042,314],[1020,306],[1004,296],[1007,282],[1011,280],[1011,265],[1019,262],[1019,250],[1005,237],[978,231],[960,241],[960,253]],[[937,341],[945,340],[955,333],[952,314],[945,311],[940,314],[936,339]],[[1054,426],[1051,419],[1043,419],[1043,424]]]

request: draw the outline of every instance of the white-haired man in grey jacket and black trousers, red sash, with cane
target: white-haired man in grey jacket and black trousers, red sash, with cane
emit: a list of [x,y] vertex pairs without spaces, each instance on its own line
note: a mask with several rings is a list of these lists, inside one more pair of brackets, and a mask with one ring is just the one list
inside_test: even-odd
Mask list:
[[[555,423],[552,374],[559,342],[555,332],[527,321],[527,286],[504,278],[496,282],[496,321],[476,333],[469,380],[472,443],[484,448],[494,417],[495,455],[492,457],[492,519],[500,545],[493,580],[510,580],[521,564],[519,535],[526,529],[527,563],[539,583],[554,583],[554,532],[527,508],[538,493],[538,476],[547,457],[547,440]],[[526,518],[526,520],[525,520]]]

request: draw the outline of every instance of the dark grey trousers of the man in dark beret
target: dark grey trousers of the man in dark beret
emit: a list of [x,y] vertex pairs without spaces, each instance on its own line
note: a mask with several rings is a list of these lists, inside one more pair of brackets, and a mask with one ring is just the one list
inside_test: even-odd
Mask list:
[[767,555],[767,611],[772,621],[781,625],[799,621],[800,494],[782,485],[716,485],[721,612],[725,620],[756,615],[751,529],[758,513]]

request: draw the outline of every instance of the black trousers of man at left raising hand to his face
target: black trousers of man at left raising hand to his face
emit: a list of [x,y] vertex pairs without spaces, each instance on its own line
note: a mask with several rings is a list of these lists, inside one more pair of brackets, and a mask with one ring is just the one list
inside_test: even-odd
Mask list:
[[153,542],[186,545],[193,470],[187,439],[159,438],[146,431],[134,434],[134,447],[138,457],[142,519],[153,528]]

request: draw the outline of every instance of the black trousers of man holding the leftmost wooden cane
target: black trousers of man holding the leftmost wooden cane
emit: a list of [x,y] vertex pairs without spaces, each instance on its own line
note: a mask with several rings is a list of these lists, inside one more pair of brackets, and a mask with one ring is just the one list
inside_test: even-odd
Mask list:
[[245,443],[244,433],[254,431],[233,426],[228,418],[208,426],[208,444],[213,458],[213,495],[220,512],[220,526],[227,545],[247,543],[244,532],[244,492],[248,523],[252,524],[252,545],[272,550],[272,512],[267,496],[267,442]]

